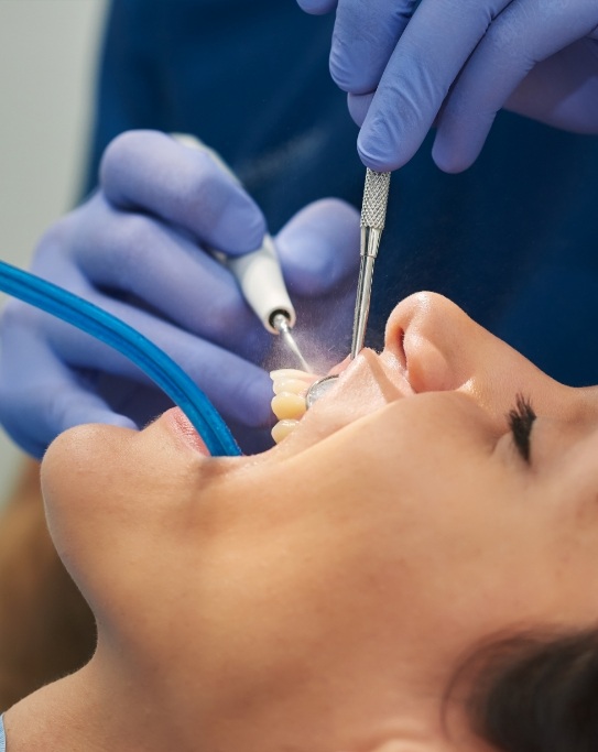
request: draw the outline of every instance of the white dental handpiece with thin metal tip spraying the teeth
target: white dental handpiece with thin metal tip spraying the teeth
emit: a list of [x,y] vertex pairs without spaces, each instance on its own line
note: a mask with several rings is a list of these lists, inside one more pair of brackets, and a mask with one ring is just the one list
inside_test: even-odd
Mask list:
[[[186,133],[174,133],[173,138],[185,146],[206,152],[238,185],[241,185],[237,175],[214,149]],[[292,335],[297,317],[284,284],[272,236],[267,233],[257,251],[242,255],[229,257],[216,249],[209,249],[209,251],[232,272],[246,301],[264,328],[270,334],[281,335],[286,347],[298,361],[300,368],[309,371],[309,366]]]

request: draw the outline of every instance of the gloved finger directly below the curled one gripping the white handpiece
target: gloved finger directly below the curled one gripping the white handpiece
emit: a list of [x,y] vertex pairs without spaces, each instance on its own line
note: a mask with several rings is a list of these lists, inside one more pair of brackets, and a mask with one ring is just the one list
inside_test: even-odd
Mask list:
[[133,295],[247,358],[267,347],[265,330],[227,269],[188,237],[152,217],[115,209],[101,194],[44,236],[35,272],[84,296],[89,284]]

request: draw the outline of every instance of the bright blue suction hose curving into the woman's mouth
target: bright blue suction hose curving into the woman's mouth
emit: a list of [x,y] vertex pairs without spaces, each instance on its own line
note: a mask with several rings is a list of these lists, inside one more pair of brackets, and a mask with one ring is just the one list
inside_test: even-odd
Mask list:
[[222,417],[163,350],[116,316],[78,295],[0,261],[0,290],[41,308],[121,352],[181,407],[213,456],[241,454]]

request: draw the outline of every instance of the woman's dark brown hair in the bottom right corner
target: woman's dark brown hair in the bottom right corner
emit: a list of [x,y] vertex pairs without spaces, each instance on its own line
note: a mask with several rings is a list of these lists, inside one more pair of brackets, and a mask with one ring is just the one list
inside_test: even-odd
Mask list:
[[472,729],[501,752],[598,752],[598,631],[501,637],[465,674]]

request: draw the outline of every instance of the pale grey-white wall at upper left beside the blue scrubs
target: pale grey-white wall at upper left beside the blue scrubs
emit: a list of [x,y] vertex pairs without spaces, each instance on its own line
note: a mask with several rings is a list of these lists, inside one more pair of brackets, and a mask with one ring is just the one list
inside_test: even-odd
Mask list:
[[[106,4],[0,0],[0,259],[19,266],[76,198]],[[19,460],[0,429],[0,500]]]

